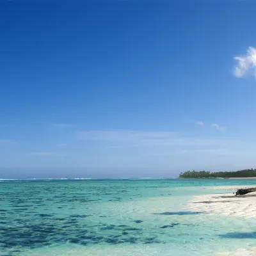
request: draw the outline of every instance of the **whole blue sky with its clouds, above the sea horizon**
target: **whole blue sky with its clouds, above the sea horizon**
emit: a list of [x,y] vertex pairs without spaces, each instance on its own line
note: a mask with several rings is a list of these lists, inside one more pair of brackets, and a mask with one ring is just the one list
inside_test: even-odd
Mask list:
[[0,0],[0,178],[256,168],[255,8]]

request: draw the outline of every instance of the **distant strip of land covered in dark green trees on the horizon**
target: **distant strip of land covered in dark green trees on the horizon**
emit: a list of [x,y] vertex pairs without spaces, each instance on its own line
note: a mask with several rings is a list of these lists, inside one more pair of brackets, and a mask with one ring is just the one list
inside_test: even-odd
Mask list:
[[179,178],[192,179],[229,179],[229,178],[256,178],[256,169],[245,169],[237,172],[205,172],[188,171],[180,173]]

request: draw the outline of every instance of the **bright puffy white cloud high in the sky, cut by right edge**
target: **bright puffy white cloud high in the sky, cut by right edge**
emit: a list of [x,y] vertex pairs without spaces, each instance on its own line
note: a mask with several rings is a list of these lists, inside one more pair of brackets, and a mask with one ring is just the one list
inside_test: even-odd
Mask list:
[[233,68],[233,74],[236,77],[243,77],[246,74],[251,74],[256,77],[256,49],[249,47],[246,56],[235,57],[234,60],[238,61],[237,65]]

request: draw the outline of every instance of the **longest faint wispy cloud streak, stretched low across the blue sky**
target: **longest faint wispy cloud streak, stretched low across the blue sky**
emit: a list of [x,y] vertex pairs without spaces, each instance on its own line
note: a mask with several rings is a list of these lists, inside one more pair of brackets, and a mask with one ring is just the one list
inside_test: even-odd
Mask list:
[[113,143],[115,147],[207,146],[223,142],[216,138],[194,138],[186,134],[164,131],[79,131],[77,136],[80,140]]

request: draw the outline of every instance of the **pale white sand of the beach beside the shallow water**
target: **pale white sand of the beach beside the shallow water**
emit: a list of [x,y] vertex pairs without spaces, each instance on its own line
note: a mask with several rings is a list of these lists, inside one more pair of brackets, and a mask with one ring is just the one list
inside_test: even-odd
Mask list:
[[[205,212],[207,214],[220,214],[241,218],[256,218],[256,192],[243,196],[233,193],[239,188],[253,188],[255,186],[215,186],[212,189],[225,189],[228,193],[194,196],[187,209],[191,212]],[[220,256],[256,256],[256,248],[245,250],[243,248],[234,252],[221,252]]]

